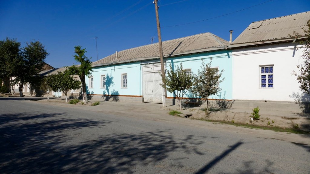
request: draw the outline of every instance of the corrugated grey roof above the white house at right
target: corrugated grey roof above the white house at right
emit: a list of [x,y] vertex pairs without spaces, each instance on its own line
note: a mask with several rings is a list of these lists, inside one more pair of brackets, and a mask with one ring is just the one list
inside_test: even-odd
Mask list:
[[252,22],[232,45],[290,38],[289,34],[293,35],[293,31],[303,34],[302,28],[306,27],[308,20],[310,11]]

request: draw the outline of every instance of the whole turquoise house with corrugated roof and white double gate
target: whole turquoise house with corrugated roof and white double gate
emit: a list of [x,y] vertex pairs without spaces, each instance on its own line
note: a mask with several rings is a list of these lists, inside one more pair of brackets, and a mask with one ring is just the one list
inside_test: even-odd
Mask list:
[[[212,33],[163,41],[164,67],[175,68],[182,62],[183,69],[197,73],[201,60],[212,67],[224,69],[220,84],[221,93],[210,98],[232,99],[232,58],[227,50],[229,42]],[[86,80],[87,94],[93,98],[125,101],[162,103],[162,78],[158,43],[122,50],[93,62],[91,77]],[[87,79],[87,78],[86,78]],[[188,94],[187,98],[197,98]],[[167,92],[167,102],[173,94]]]

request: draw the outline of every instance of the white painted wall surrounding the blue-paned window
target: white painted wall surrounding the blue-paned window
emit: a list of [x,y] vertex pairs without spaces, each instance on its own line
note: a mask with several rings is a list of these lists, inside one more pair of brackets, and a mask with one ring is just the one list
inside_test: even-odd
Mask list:
[[[292,74],[303,62],[302,49],[294,44],[232,50],[232,98],[235,100],[296,101],[302,96]],[[274,65],[272,89],[260,88],[259,66]],[[294,97],[295,96],[295,97]]]

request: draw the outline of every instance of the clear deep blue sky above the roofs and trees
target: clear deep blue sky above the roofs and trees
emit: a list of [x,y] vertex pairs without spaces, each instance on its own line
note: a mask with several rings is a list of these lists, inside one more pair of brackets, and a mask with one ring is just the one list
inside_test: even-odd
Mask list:
[[[163,41],[206,32],[229,40],[229,30],[234,40],[251,22],[310,11],[309,0],[159,0],[159,6]],[[167,27],[179,24],[186,25]],[[96,61],[94,37],[102,59],[150,44],[153,36],[158,42],[153,0],[0,0],[0,39],[16,38],[22,47],[41,41],[53,67],[75,63],[77,45]]]

